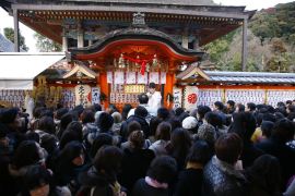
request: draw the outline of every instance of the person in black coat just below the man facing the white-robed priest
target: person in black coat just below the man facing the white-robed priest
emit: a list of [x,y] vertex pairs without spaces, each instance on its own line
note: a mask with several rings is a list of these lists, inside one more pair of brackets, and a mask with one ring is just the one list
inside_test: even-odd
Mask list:
[[127,140],[128,134],[127,134],[127,127],[128,124],[132,121],[137,121],[141,125],[141,130],[144,133],[144,137],[148,138],[150,136],[150,126],[148,122],[145,121],[145,117],[148,115],[148,110],[143,107],[138,107],[134,111],[134,115],[129,117],[121,125],[120,128],[120,135],[122,136],[123,140]]

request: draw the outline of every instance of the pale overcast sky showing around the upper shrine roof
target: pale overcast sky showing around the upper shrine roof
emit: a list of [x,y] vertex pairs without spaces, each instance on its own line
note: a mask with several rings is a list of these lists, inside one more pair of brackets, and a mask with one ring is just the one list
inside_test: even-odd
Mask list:
[[[223,5],[246,5],[247,10],[261,10],[274,7],[278,3],[292,2],[294,0],[214,0],[214,2]],[[4,27],[13,27],[13,19],[8,13],[0,9],[0,32],[3,33]],[[36,51],[34,32],[23,24],[20,24],[22,35],[25,37],[25,42],[31,52]]]

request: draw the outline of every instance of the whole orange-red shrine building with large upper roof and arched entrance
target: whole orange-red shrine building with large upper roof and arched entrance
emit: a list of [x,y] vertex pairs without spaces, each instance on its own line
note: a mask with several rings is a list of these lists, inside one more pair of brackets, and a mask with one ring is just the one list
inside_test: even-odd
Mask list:
[[[255,14],[245,7],[216,5],[208,0],[4,0],[0,5],[13,15],[16,32],[22,22],[62,45],[64,58],[52,53],[58,56],[57,62],[40,65],[47,69],[30,78],[33,94],[40,94],[36,87],[47,86],[52,89],[46,94],[51,95],[45,97],[47,101],[62,101],[70,108],[85,102],[134,107],[150,82],[157,84],[163,106],[169,108],[176,107],[175,98],[182,106],[190,93],[202,95],[201,89],[206,88],[221,90],[210,96],[225,100],[221,82],[212,81],[214,71],[200,69],[202,46],[241,26],[245,70],[247,24]],[[20,51],[17,35],[15,52]],[[5,89],[19,90],[15,85]],[[62,96],[52,97],[55,90]],[[200,100],[199,96],[199,103],[204,103]],[[198,101],[192,101],[193,106]]]

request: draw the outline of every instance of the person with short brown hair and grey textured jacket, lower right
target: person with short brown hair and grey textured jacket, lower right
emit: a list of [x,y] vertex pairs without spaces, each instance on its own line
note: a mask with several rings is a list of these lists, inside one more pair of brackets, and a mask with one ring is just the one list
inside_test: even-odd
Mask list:
[[215,154],[203,171],[203,195],[246,196],[247,180],[236,163],[243,150],[243,140],[229,133],[220,136],[215,143]]

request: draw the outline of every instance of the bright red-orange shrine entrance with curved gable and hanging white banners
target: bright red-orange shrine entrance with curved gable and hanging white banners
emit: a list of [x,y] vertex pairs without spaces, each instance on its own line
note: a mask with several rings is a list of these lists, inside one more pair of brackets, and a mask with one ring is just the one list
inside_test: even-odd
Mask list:
[[97,86],[104,107],[121,109],[138,105],[138,95],[151,82],[162,93],[163,106],[172,107],[175,74],[184,64],[199,61],[203,52],[184,49],[166,34],[146,26],[115,30],[87,48],[70,50],[72,60],[97,72]]

